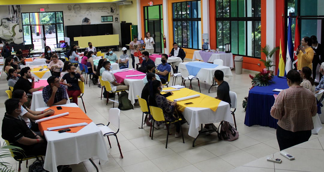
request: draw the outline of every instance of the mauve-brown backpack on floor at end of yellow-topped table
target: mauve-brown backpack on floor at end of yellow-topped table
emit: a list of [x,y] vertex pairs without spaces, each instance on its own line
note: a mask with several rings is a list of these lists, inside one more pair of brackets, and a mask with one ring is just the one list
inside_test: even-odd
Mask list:
[[238,138],[238,131],[227,121],[222,121],[219,124],[217,133],[218,138],[225,141],[234,141]]

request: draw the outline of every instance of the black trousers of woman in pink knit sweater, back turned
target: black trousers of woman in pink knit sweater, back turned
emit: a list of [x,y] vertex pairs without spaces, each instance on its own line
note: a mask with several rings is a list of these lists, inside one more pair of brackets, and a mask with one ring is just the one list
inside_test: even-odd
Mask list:
[[280,150],[306,142],[311,135],[312,130],[292,132],[280,126],[277,127],[277,140]]

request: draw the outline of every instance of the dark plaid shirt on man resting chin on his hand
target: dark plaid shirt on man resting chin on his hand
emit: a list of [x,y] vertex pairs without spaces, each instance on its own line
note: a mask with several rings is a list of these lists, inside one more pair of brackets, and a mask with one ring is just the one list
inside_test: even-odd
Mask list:
[[[49,85],[45,86],[43,88],[43,99],[44,99],[45,103],[47,103],[48,100],[51,98],[52,92],[53,92],[53,90],[51,89],[51,87]],[[67,96],[65,86],[60,84],[60,88],[58,88],[56,93],[55,93],[55,98],[54,98],[53,103],[57,103],[57,102],[61,101],[62,99],[67,100],[67,99],[69,99],[69,97]]]

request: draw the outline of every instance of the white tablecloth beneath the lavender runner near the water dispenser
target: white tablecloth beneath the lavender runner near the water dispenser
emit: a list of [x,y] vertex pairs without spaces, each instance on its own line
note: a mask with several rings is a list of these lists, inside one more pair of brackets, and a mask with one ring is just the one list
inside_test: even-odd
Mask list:
[[[197,60],[203,60],[203,58],[199,54],[200,50],[194,51],[192,61]],[[221,59],[223,60],[223,65],[228,67],[234,67],[234,60],[233,60],[233,54],[232,53],[213,53],[212,56],[210,56],[208,62],[214,63],[215,59]]]

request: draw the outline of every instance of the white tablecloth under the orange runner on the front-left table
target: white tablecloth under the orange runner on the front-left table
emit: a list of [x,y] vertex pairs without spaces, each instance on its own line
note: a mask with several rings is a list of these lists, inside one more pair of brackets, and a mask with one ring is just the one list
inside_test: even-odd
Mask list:
[[[78,107],[75,103],[60,105]],[[39,108],[44,110],[48,107]],[[93,122],[76,133],[44,131],[47,140],[44,169],[57,172],[57,166],[79,164],[89,158],[100,158],[103,165],[108,162],[108,149],[101,130]]]

